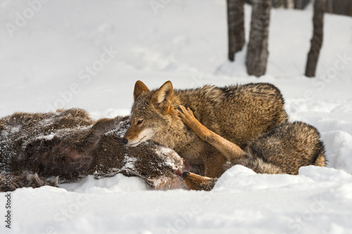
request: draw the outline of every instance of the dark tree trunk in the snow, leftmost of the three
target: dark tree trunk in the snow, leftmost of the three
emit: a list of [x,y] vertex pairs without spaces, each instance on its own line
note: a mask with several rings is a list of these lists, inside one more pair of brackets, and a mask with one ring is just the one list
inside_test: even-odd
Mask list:
[[227,0],[227,25],[230,61],[244,46],[244,0]]

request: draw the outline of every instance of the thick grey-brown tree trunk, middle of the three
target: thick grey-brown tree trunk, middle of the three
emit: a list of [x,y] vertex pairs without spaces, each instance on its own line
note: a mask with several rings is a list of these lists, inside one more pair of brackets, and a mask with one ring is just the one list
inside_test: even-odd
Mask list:
[[271,3],[271,0],[253,0],[246,67],[248,74],[253,74],[256,77],[265,74],[268,62]]

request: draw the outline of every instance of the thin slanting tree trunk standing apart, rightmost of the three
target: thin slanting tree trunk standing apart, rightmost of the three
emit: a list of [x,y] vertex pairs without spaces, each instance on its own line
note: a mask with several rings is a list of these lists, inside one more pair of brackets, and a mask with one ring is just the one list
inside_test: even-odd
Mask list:
[[314,3],[313,38],[310,41],[311,44],[306,66],[306,77],[315,77],[320,48],[322,48],[324,13],[326,5],[326,0],[315,0]]

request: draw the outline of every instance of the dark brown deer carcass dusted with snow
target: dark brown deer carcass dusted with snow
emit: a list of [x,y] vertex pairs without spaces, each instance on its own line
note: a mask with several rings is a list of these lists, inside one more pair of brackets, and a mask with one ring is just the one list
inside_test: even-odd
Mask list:
[[159,190],[186,188],[180,174],[189,166],[182,158],[154,143],[126,148],[121,138],[128,126],[129,117],[95,121],[81,109],[0,119],[0,191],[118,173]]

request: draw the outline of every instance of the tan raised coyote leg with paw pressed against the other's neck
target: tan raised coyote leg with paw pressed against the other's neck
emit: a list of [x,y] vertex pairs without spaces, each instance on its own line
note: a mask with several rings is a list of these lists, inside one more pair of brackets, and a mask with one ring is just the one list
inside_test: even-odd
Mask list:
[[186,109],[182,105],[180,105],[180,109],[182,111],[179,111],[179,115],[184,124],[192,129],[197,134],[197,136],[203,139],[203,141],[206,141],[217,148],[228,161],[232,162],[232,160],[239,159],[245,155],[244,151],[241,150],[238,145],[227,141],[225,138],[215,134],[215,132],[210,131],[206,128],[206,126],[201,124],[198,119],[194,117],[191,109]]

